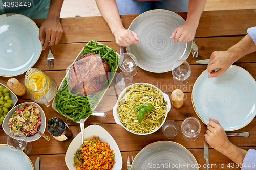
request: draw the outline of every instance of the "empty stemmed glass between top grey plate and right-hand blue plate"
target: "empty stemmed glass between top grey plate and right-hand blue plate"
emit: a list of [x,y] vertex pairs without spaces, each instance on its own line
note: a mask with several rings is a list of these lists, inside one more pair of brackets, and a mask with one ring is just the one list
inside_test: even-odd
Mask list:
[[173,65],[172,74],[174,84],[178,87],[183,87],[189,81],[191,74],[190,65],[185,60],[178,60]]

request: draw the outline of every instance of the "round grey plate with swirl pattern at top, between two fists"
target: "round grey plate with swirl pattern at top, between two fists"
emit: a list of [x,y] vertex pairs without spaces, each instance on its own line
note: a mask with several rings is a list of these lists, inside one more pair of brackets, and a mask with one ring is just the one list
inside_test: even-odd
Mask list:
[[185,20],[168,10],[144,12],[133,20],[129,30],[139,35],[140,44],[127,46],[127,51],[135,55],[138,66],[150,72],[168,72],[177,60],[186,60],[192,48],[192,41],[173,42],[174,30],[184,25]]

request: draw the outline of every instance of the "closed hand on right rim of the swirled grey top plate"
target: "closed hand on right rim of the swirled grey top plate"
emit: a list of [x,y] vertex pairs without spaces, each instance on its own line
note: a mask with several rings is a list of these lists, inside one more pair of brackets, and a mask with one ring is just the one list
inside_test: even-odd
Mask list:
[[170,39],[174,38],[174,43],[177,41],[182,43],[192,41],[196,35],[196,29],[197,28],[185,23],[174,30]]

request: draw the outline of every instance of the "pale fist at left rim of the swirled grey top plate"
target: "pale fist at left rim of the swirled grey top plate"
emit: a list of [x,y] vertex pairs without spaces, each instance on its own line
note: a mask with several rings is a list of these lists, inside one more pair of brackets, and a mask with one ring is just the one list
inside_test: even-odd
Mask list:
[[119,29],[115,34],[116,43],[119,46],[139,44],[139,36],[135,32],[126,29]]

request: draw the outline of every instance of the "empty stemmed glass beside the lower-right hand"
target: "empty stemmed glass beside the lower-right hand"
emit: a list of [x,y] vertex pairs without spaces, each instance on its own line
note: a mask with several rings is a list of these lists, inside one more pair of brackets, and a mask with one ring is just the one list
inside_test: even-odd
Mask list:
[[181,131],[183,138],[186,141],[193,142],[197,140],[201,131],[201,124],[198,119],[194,117],[186,118],[181,124]]

